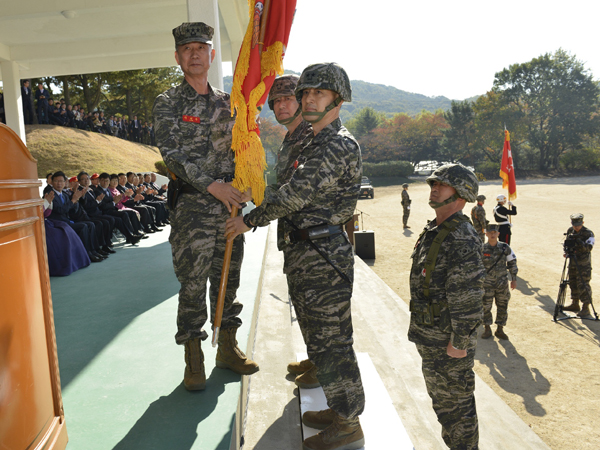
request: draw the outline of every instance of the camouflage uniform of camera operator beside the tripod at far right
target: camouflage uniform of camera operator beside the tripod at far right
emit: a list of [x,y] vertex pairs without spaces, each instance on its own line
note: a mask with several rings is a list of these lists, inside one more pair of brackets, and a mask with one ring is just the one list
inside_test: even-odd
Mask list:
[[[572,235],[577,239],[574,256],[569,261],[569,287],[571,288],[571,299],[581,300],[583,303],[591,303],[592,287],[592,248],[594,247],[595,237],[592,230],[581,227],[576,232],[573,227],[567,230],[567,235]],[[579,270],[577,270],[579,269]]]

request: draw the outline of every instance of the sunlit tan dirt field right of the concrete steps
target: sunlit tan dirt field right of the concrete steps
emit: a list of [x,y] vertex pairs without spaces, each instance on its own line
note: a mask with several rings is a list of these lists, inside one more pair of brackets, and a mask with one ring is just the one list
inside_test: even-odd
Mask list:
[[[401,189],[376,187],[375,198],[360,200],[357,208],[364,213],[361,229],[375,231],[376,259],[368,263],[408,303],[410,253],[435,213],[427,204],[429,187],[424,179],[414,180],[409,187],[411,228],[403,230]],[[506,194],[501,180],[482,183],[479,193],[488,199],[484,208],[493,222],[495,198]],[[511,247],[519,274],[505,328],[510,340],[480,339],[475,371],[552,449],[596,450],[600,448],[600,322],[555,323],[552,318],[569,216],[583,213],[585,226],[600,236],[600,177],[517,181],[517,194]],[[473,205],[468,203],[464,212],[470,214]],[[598,264],[593,272],[598,272]],[[600,292],[598,275],[591,286],[593,292]],[[600,303],[596,304],[600,313]],[[495,307],[492,313],[495,317]]]

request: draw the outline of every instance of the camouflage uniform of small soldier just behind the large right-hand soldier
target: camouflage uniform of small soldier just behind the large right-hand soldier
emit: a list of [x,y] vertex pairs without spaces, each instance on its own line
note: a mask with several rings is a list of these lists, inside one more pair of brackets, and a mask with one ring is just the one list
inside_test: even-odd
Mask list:
[[[498,261],[496,263],[496,261]],[[496,264],[496,265],[494,265]],[[485,294],[483,295],[483,323],[491,325],[492,304],[496,300],[496,324],[506,326],[508,320],[508,301],[510,289],[508,273],[511,280],[517,279],[519,271],[517,257],[508,244],[498,242],[492,246],[483,244],[483,266],[485,267]],[[507,271],[508,269],[508,271]]]

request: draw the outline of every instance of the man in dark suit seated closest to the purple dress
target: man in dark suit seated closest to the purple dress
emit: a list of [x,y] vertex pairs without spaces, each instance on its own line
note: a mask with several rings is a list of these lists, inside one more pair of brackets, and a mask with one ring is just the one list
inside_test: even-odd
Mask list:
[[58,171],[52,175],[54,199],[52,200],[52,213],[49,218],[69,224],[81,239],[90,260],[92,262],[103,261],[104,258],[94,250],[97,246],[97,242],[94,242],[94,224],[91,222],[75,222],[69,217],[71,211],[79,209],[79,199],[84,193],[83,191],[75,191],[71,196],[66,192],[63,192],[66,182],[67,177],[63,172]]

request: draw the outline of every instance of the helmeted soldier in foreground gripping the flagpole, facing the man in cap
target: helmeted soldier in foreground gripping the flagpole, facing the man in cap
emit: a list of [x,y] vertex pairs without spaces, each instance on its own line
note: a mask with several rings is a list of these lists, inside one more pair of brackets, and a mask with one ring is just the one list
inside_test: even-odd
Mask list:
[[360,448],[364,435],[358,416],[365,399],[352,348],[354,254],[343,225],[356,207],[362,163],[358,143],[339,119],[341,103],[351,101],[350,80],[335,63],[313,64],[302,72],[296,97],[303,118],[312,123],[313,136],[292,177],[281,186],[267,187],[263,204],[243,221],[229,219],[227,231],[237,234],[277,218],[289,219],[291,245],[284,247],[284,272],[330,408],[304,414],[306,425],[323,431],[305,439],[303,448]]

